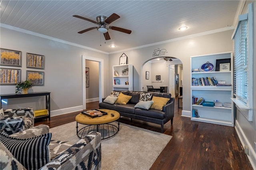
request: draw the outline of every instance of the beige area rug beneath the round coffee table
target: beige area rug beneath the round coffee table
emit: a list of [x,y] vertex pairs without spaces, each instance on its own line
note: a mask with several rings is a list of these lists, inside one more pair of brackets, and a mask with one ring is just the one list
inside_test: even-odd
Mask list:
[[[117,125],[117,123],[114,123]],[[82,125],[78,124],[79,129]],[[52,139],[76,143],[76,122],[50,128]],[[148,170],[172,136],[120,123],[120,131],[102,140],[102,170]]]

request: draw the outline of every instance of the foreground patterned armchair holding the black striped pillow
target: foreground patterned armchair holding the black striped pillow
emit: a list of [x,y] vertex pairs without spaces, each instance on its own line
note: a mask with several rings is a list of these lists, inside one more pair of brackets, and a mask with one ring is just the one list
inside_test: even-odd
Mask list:
[[[47,125],[38,125],[9,135],[11,138],[28,139],[49,133]],[[50,160],[40,170],[100,170],[101,169],[101,135],[99,132],[90,132],[76,144],[50,140]],[[1,169],[26,170],[20,161],[0,142]]]

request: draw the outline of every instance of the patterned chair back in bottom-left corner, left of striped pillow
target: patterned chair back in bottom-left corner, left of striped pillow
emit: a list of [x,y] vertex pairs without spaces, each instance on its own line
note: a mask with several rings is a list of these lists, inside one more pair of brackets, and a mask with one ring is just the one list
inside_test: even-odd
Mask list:
[[12,153],[0,142],[0,166],[1,170],[23,170],[22,164]]

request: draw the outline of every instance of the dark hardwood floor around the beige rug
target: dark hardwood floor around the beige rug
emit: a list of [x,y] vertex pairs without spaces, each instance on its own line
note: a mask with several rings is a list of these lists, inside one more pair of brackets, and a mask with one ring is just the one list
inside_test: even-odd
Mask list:
[[[98,102],[86,103],[87,109],[97,109]],[[151,170],[252,170],[234,127],[190,121],[181,117],[178,98],[175,99],[175,115],[164,125],[164,134],[173,136],[160,153]],[[51,117],[51,121],[36,122],[50,128],[75,121],[80,112]],[[121,123],[160,132],[160,125],[126,117]]]

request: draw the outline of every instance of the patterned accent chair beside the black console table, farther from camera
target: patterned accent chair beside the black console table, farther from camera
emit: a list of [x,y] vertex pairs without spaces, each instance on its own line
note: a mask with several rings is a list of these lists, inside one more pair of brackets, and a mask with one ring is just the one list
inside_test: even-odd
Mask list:
[[6,109],[4,118],[0,119],[0,132],[13,134],[34,127],[34,111],[32,108]]

